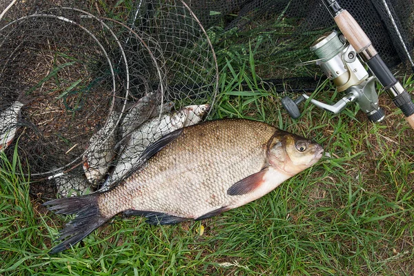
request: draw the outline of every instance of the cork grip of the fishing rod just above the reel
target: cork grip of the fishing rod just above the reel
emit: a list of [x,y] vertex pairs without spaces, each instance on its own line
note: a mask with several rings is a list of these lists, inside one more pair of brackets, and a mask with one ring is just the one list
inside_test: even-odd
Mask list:
[[347,11],[343,10],[335,18],[335,22],[342,34],[348,39],[349,43],[357,52],[362,52],[371,45],[371,40],[366,36],[364,30],[359,26],[357,21]]

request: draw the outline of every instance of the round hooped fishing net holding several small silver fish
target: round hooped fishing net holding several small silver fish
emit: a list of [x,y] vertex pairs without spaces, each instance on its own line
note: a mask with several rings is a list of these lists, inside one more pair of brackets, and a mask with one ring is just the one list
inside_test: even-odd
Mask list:
[[109,188],[213,106],[215,54],[190,8],[120,3],[17,1],[0,21],[0,150],[34,194]]

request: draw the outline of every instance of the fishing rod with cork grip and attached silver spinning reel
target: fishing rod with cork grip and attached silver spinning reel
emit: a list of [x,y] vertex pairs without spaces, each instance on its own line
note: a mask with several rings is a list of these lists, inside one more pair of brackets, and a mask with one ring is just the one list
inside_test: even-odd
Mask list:
[[[336,0],[322,0],[322,2],[343,35],[331,32],[318,39],[311,46],[311,51],[319,57],[317,65],[335,83],[337,90],[346,91],[348,94],[333,106],[315,99],[311,99],[311,103],[337,114],[346,108],[348,103],[357,101],[370,121],[382,121],[384,112],[378,104],[378,95],[375,92],[375,79],[377,79],[395,106],[402,110],[411,128],[414,128],[414,103],[411,96],[378,55],[364,30]],[[374,76],[369,76],[357,56],[366,63]],[[284,97],[282,104],[290,116],[297,118],[300,115],[297,104],[308,98],[306,94],[295,101]]]

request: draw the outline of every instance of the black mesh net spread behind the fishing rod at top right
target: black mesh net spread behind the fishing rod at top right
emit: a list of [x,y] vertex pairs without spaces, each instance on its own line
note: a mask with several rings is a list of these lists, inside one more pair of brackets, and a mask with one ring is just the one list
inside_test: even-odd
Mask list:
[[[315,60],[309,51],[318,37],[337,29],[321,0],[193,0],[188,1],[205,28],[220,41],[250,43],[255,50],[257,73],[268,82],[288,83],[292,90],[315,88],[320,68],[297,68]],[[373,42],[387,66],[412,72],[414,46],[414,3],[404,0],[339,0]],[[222,46],[224,42],[221,42]],[[215,47],[217,51],[219,47]],[[313,83],[313,84],[311,84]],[[284,87],[281,87],[284,90]]]

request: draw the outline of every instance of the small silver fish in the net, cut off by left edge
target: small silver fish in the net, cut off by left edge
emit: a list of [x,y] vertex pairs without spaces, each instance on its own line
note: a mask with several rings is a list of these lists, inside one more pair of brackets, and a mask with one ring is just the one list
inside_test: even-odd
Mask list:
[[17,100],[11,106],[0,113],[0,150],[5,150],[14,139],[19,128],[21,118],[21,108],[24,103]]

